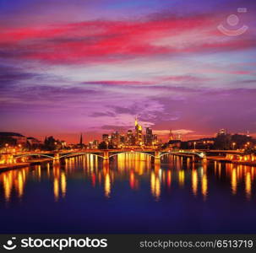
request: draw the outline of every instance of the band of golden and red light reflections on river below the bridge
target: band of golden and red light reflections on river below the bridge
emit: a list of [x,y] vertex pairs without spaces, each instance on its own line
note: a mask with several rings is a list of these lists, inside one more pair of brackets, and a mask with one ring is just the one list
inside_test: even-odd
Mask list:
[[[227,191],[231,196],[242,192],[245,199],[251,201],[254,177],[255,168],[241,164],[193,163],[189,158],[173,155],[154,163],[150,156],[139,153],[121,153],[111,160],[102,160],[87,154],[1,173],[0,201],[22,200],[26,185],[44,181],[47,182],[44,187],[52,188],[52,198],[59,202],[68,196],[69,180],[81,179],[95,191],[101,191],[106,199],[128,186],[130,191],[148,191],[155,201],[171,194],[172,188],[189,191],[191,196],[208,201],[211,184],[216,188],[221,186],[221,191]],[[142,182],[144,186],[141,186]],[[118,190],[115,188],[117,183]]]

